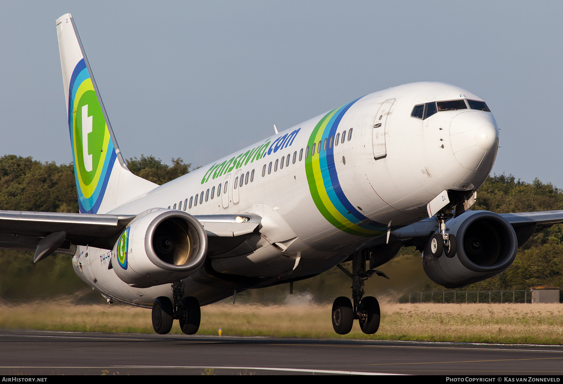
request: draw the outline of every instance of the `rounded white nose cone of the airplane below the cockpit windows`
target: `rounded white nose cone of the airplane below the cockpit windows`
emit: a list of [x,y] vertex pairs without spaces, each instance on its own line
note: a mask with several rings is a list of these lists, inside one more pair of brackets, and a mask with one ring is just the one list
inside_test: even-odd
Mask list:
[[464,168],[490,167],[498,148],[497,124],[490,113],[462,112],[450,123],[450,142],[455,159]]

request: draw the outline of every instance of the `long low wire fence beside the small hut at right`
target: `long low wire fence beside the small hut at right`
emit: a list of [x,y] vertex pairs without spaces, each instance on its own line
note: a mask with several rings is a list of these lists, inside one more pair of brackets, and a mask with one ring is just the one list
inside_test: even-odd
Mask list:
[[531,303],[529,289],[513,291],[418,291],[404,294],[400,303]]

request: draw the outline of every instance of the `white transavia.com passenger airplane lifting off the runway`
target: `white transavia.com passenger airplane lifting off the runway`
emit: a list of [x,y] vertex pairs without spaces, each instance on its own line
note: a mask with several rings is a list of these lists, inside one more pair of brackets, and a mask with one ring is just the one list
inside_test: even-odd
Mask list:
[[[72,15],[56,20],[80,213],[0,211],[0,247],[72,256],[108,302],[151,309],[155,332],[199,329],[200,306],[290,284],[334,266],[352,281],[334,331],[377,332],[364,282],[401,247],[426,274],[463,287],[508,269],[563,211],[472,211],[493,167],[497,122],[445,83],[370,93],[157,185],[133,175]],[[342,266],[351,261],[352,271]],[[369,266],[367,268],[367,262]]]

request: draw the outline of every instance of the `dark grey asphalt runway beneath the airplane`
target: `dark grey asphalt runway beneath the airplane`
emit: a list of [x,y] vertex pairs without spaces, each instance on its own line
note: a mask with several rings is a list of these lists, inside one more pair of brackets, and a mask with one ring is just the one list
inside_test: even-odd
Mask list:
[[563,374],[563,346],[0,330],[0,374]]

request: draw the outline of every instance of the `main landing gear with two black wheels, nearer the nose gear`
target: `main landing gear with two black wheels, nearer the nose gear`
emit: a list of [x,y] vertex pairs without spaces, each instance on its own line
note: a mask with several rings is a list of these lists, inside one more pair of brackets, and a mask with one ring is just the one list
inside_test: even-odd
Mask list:
[[373,296],[364,296],[364,280],[374,274],[388,279],[387,275],[381,271],[370,269],[365,270],[365,261],[369,257],[368,249],[356,252],[352,255],[352,273],[348,272],[340,264],[337,265],[345,274],[352,278],[352,298],[354,305],[345,296],[337,297],[332,305],[332,326],[334,332],[347,334],[352,330],[354,319],[358,319],[361,331],[367,334],[377,332],[381,311],[379,303]]

